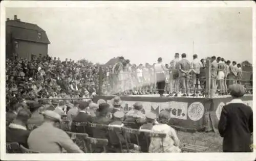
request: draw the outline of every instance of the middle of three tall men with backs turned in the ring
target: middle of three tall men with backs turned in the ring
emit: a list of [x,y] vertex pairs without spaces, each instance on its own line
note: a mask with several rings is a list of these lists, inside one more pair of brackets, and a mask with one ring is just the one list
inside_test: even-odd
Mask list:
[[180,70],[180,79],[182,83],[183,89],[183,97],[188,96],[188,82],[189,82],[189,73],[191,71],[191,65],[189,61],[186,59],[186,53],[182,53],[181,61],[179,62],[179,70]]

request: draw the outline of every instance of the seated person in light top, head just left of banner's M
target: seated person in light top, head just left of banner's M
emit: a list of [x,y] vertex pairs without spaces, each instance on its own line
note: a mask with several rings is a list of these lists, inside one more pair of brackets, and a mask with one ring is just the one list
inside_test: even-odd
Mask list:
[[130,128],[139,129],[139,127],[145,123],[145,115],[141,112],[143,105],[141,102],[135,102],[134,110],[125,114],[124,122],[128,123]]

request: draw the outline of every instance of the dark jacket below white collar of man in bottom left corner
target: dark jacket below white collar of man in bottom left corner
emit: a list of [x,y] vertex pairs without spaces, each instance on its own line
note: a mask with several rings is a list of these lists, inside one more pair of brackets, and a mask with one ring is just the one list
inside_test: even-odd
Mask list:
[[28,130],[6,127],[6,142],[16,142],[28,148],[29,133]]

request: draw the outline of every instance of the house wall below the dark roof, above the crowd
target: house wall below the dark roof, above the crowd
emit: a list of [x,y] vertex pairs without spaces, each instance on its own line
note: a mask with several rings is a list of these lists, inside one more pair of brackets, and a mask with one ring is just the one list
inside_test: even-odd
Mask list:
[[22,40],[14,40],[18,42],[17,48],[15,48],[15,52],[18,57],[26,58],[31,60],[31,55],[39,56],[41,53],[42,56],[46,56],[48,53],[48,45],[42,43],[28,42]]

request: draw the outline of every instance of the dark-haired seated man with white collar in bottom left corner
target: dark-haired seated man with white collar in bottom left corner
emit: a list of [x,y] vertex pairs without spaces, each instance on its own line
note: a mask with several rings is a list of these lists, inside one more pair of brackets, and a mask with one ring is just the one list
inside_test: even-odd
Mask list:
[[31,112],[27,109],[22,109],[18,112],[17,117],[6,127],[6,142],[16,142],[28,148],[28,137],[30,131],[26,125],[31,117]]

